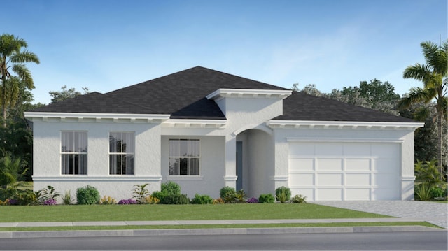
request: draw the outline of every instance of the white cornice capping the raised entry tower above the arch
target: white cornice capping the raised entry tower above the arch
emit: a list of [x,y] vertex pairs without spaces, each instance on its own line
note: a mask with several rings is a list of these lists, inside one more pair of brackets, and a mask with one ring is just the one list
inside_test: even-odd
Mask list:
[[293,91],[290,89],[217,89],[207,95],[207,99],[223,98],[255,98],[255,99],[286,99]]

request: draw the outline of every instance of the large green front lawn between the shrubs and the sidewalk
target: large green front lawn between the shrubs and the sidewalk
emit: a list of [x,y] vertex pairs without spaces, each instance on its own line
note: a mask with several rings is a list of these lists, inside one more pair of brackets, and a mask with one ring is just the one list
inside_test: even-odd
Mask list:
[[389,217],[316,204],[0,206],[0,222],[253,220]]

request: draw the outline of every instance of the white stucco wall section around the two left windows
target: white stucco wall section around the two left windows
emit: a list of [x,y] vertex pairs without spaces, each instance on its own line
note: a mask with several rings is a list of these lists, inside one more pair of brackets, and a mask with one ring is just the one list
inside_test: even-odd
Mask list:
[[[87,131],[87,175],[61,174],[61,131]],[[109,131],[135,134],[134,175],[109,175]],[[34,190],[52,185],[64,194],[91,185],[101,196],[130,199],[134,185],[160,189],[160,125],[113,122],[34,122]]]

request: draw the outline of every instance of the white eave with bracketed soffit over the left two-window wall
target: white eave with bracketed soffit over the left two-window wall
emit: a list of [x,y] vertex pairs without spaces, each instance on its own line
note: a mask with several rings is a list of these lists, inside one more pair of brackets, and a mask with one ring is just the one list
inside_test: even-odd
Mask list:
[[162,123],[169,114],[127,114],[127,113],[38,113],[25,112],[33,122],[134,122]]

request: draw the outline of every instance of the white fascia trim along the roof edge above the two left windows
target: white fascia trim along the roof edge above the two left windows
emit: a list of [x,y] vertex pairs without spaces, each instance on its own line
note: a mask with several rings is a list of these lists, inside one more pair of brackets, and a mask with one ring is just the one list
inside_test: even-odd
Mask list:
[[28,120],[66,120],[66,119],[78,119],[87,120],[94,119],[100,120],[146,120],[148,122],[163,122],[169,120],[169,114],[131,114],[131,113],[42,113],[42,112],[25,112],[25,117]]

